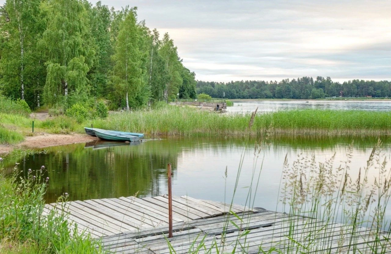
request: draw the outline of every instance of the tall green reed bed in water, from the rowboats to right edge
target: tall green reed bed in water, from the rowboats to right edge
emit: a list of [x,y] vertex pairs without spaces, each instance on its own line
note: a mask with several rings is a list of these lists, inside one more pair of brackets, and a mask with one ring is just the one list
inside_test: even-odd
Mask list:
[[152,111],[112,114],[107,120],[93,120],[91,123],[103,129],[183,136],[246,136],[266,132],[274,135],[378,135],[388,134],[391,128],[391,113],[379,111],[305,109],[258,112],[249,128],[250,118],[251,114],[217,114],[190,107],[167,106]]

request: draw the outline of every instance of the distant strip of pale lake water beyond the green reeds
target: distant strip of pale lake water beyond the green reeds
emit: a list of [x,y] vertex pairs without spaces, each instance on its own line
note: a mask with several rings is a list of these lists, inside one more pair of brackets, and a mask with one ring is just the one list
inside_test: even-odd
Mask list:
[[333,100],[317,101],[303,100],[277,101],[277,100],[258,100],[258,101],[240,101],[233,102],[232,107],[227,111],[232,113],[253,112],[258,107],[258,112],[277,111],[284,109],[361,109],[361,110],[391,110],[391,101],[350,101]]

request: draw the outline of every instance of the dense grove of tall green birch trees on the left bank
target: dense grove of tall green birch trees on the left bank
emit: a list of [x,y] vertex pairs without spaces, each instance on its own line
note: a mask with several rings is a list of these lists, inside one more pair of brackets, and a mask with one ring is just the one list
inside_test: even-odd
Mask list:
[[0,7],[0,93],[30,107],[106,98],[112,108],[196,98],[195,74],[169,34],[136,7],[86,0],[6,0]]

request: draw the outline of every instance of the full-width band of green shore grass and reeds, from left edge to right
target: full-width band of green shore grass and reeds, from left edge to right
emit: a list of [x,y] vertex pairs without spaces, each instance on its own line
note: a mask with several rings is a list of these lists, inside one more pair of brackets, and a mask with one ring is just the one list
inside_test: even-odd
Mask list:
[[[391,112],[361,110],[289,110],[256,114],[217,114],[190,107],[164,106],[153,110],[113,113],[106,119],[88,119],[79,123],[60,115],[45,121],[35,120],[35,132],[83,133],[84,126],[146,135],[176,136],[377,136],[389,134]],[[32,119],[18,114],[0,113],[0,142],[18,143],[31,136]]]

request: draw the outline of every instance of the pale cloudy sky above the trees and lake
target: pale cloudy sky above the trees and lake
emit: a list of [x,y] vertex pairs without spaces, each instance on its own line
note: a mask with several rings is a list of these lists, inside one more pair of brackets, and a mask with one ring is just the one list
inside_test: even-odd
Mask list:
[[391,80],[390,0],[101,2],[137,6],[198,80]]

